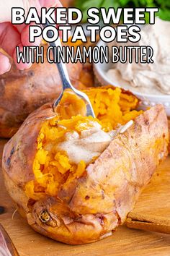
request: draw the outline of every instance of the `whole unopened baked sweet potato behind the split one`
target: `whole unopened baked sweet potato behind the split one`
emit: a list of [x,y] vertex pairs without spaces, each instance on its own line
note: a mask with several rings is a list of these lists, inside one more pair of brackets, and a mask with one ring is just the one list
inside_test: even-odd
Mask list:
[[[47,46],[45,46],[47,47]],[[61,92],[61,80],[55,64],[33,64],[19,71],[11,60],[12,69],[0,76],[0,137],[12,137],[26,117]],[[83,89],[80,63],[68,64],[71,82]]]

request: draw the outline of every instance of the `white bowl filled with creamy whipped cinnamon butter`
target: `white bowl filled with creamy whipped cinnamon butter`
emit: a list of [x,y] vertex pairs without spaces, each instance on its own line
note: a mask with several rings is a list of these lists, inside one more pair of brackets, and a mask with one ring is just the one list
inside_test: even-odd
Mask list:
[[[153,63],[94,64],[94,73],[102,85],[114,85],[132,91],[140,98],[140,108],[146,109],[162,103],[170,116],[170,22],[156,18],[155,25],[141,29],[141,40],[134,46],[151,46]],[[132,43],[109,43],[108,46],[132,46]],[[99,41],[98,46],[106,46]]]

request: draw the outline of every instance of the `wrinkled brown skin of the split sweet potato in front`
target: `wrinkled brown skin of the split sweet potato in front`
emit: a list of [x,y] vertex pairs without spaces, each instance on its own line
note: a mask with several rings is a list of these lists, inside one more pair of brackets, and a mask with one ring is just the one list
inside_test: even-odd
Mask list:
[[[6,189],[19,212],[35,231],[67,244],[95,242],[124,223],[156,166],[168,154],[166,111],[157,105],[138,116],[132,127],[117,135],[102,155],[58,192],[35,202],[24,194],[34,179],[32,162],[42,122],[55,116],[51,105],[31,114],[7,142],[3,154]],[[29,136],[25,136],[29,135]],[[48,215],[48,220],[42,215]]]

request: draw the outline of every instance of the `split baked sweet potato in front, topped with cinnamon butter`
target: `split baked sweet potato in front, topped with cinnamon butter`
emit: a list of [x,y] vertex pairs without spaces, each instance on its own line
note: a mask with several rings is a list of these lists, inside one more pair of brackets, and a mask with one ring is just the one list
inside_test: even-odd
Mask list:
[[[94,104],[102,103],[98,101]],[[115,109],[119,107],[115,104]],[[6,143],[2,160],[6,189],[19,213],[40,234],[68,244],[111,235],[166,158],[169,130],[164,106],[136,114],[131,127],[122,134],[111,131],[108,140],[100,136],[112,129],[112,122],[102,123],[104,114],[98,114],[99,119],[80,115],[62,119],[61,112],[54,113],[46,104]],[[132,119],[132,111],[127,114]],[[79,145],[80,150],[66,147],[70,140],[69,145]]]

